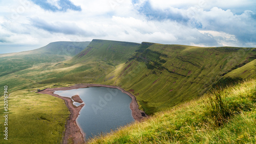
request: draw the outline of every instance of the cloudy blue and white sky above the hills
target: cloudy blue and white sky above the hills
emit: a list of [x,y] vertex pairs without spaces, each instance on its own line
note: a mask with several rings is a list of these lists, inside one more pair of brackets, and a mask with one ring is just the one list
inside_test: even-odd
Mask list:
[[256,47],[256,1],[0,0],[0,53],[92,39]]

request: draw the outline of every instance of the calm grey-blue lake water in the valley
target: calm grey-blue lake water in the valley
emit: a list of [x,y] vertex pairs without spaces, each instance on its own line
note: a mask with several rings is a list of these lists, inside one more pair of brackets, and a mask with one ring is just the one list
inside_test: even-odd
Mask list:
[[77,117],[77,123],[86,133],[86,138],[111,132],[135,121],[130,109],[132,98],[117,88],[88,87],[54,93],[69,98],[76,94],[80,96],[85,105]]

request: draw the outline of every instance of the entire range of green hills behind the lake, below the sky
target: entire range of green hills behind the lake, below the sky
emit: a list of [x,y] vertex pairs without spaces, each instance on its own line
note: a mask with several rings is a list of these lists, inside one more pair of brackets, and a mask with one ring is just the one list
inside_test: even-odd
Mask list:
[[37,50],[0,55],[0,76],[18,75],[23,79],[16,81],[28,85],[33,81],[120,86],[136,96],[141,109],[153,114],[200,97],[223,77],[254,78],[254,50],[99,39],[52,42]]

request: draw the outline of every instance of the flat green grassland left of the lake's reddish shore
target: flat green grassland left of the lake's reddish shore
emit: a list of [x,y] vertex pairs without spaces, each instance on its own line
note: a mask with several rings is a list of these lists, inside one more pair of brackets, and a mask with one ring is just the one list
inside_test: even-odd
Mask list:
[[[38,94],[30,90],[12,92],[8,98],[8,141],[0,143],[59,143],[69,110],[65,102],[48,94]],[[34,90],[34,89],[33,89]],[[1,98],[0,103],[4,100]],[[0,108],[3,113],[3,107]],[[4,119],[1,118],[3,124]],[[4,130],[4,125],[0,126]],[[1,135],[3,135],[1,131]]]

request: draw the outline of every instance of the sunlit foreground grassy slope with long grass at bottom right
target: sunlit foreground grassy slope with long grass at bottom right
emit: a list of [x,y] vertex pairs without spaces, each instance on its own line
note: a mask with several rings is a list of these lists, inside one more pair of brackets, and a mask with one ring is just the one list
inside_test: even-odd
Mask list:
[[255,143],[256,82],[238,83],[89,143]]

